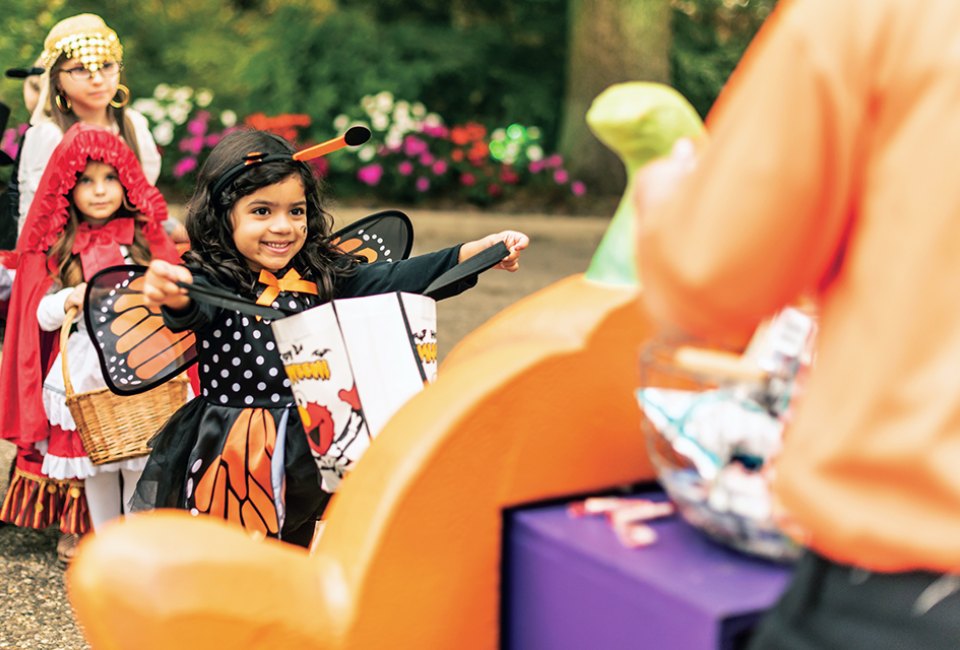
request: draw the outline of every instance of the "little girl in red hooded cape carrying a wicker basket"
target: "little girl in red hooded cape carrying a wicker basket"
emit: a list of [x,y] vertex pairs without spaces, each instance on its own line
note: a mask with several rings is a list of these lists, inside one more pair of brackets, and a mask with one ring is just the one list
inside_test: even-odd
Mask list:
[[[14,479],[0,518],[21,526],[59,524],[67,533],[121,514],[120,475],[132,492],[145,457],[95,466],[66,406],[56,333],[83,303],[85,281],[107,266],[177,262],[164,232],[167,206],[133,151],[117,136],[77,124],[54,150],[18,243],[0,367],[0,436],[17,445]],[[83,323],[67,342],[77,392],[105,386]]]

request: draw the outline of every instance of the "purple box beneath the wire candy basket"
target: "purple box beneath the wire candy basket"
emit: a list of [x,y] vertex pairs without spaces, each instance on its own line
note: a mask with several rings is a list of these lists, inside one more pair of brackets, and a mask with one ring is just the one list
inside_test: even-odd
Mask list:
[[742,647],[790,567],[722,547],[678,515],[652,525],[657,542],[628,549],[604,518],[571,518],[565,505],[507,513],[502,647]]

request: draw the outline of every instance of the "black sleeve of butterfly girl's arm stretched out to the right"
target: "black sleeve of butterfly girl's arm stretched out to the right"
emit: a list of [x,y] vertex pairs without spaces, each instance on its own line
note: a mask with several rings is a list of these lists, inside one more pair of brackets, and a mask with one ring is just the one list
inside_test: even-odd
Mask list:
[[[336,297],[356,298],[390,291],[423,293],[436,277],[457,265],[459,256],[460,246],[457,245],[398,262],[361,264],[356,273],[339,279]],[[437,299],[456,296],[476,284],[476,276],[467,278],[448,288]]]

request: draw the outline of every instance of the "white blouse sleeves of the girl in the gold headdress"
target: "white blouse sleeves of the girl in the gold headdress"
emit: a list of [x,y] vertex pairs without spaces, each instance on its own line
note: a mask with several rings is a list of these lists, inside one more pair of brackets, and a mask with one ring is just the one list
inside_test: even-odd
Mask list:
[[[130,118],[130,123],[133,125],[137,148],[140,150],[140,166],[143,168],[143,175],[148,183],[156,185],[160,177],[160,151],[157,150],[157,143],[154,142],[153,134],[150,133],[147,118],[132,108],[127,108],[124,114]],[[113,131],[119,133],[119,128],[114,127]],[[18,235],[23,230],[30,204],[33,203],[33,195],[40,186],[40,177],[47,168],[50,155],[61,140],[63,140],[63,131],[50,121],[31,126],[23,136],[23,151],[20,154],[20,169],[17,176],[20,188]]]

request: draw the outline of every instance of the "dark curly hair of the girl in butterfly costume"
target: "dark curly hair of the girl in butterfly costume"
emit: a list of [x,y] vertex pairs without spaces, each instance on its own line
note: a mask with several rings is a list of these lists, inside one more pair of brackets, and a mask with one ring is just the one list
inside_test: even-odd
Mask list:
[[211,188],[228,169],[251,152],[292,154],[294,148],[283,138],[265,131],[237,131],[227,135],[210,152],[200,168],[197,189],[187,204],[186,228],[190,250],[184,261],[215,283],[243,293],[254,293],[257,274],[247,265],[233,243],[230,211],[238,200],[262,187],[297,176],[307,200],[307,239],[290,266],[305,279],[317,283],[321,300],[333,298],[334,280],[351,274],[357,258],[330,246],[333,218],[323,207],[320,181],[309,165],[281,160],[250,165],[219,193]]

